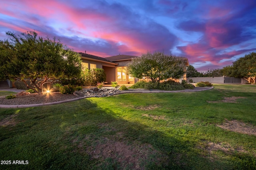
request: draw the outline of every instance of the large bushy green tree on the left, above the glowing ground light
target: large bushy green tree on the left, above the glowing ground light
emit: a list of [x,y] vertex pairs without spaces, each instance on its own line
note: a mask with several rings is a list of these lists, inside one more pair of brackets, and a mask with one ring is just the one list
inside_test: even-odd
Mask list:
[[22,81],[29,89],[43,92],[43,85],[59,78],[79,77],[82,70],[80,54],[60,42],[38,37],[35,31],[0,41],[0,79]]

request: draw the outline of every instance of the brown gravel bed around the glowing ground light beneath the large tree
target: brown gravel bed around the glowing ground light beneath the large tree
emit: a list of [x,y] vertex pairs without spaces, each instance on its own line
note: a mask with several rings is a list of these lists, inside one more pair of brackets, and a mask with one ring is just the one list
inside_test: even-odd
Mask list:
[[28,105],[28,104],[44,104],[52,102],[60,102],[64,100],[70,100],[78,98],[73,94],[60,94],[50,93],[50,94],[29,94],[26,96],[17,96],[14,99],[6,99],[5,97],[0,98],[0,104],[2,105]]

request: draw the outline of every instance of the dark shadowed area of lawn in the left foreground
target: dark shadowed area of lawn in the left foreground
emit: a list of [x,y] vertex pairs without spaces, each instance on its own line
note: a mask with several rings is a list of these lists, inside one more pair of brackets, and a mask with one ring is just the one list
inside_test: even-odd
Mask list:
[[[84,99],[19,109],[15,126],[0,127],[1,160],[29,160],[9,169],[232,169],[147,125],[127,121]],[[7,110],[7,109],[4,109]],[[17,109],[10,113],[15,112]],[[0,112],[3,110],[0,110]],[[30,131],[28,131],[30,129]],[[10,133],[8,133],[10,132]]]

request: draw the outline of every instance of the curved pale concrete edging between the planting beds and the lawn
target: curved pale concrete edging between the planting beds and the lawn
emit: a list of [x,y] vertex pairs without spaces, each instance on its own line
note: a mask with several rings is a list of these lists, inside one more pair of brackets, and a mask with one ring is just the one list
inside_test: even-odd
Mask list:
[[[120,93],[115,93],[115,94],[111,94],[109,96],[114,96],[117,94],[127,94],[127,93],[178,93],[178,92],[200,92],[200,91],[204,91],[204,90],[210,90],[214,88],[213,86],[210,88],[205,88],[202,90],[176,90],[176,91],[164,91],[164,90],[152,90],[152,91],[146,91],[146,92],[120,92]],[[109,97],[106,96],[106,97]],[[38,107],[38,106],[50,106],[50,105],[55,105],[55,104],[62,104],[62,103],[67,103],[67,102],[74,102],[76,100],[80,100],[80,99],[85,99],[85,98],[93,98],[90,96],[85,96],[85,97],[81,97],[81,98],[74,98],[74,99],[70,99],[70,100],[64,100],[64,101],[60,101],[60,102],[52,102],[52,103],[43,103],[43,104],[28,104],[28,105],[0,105],[0,108],[26,108],[26,107]]]

